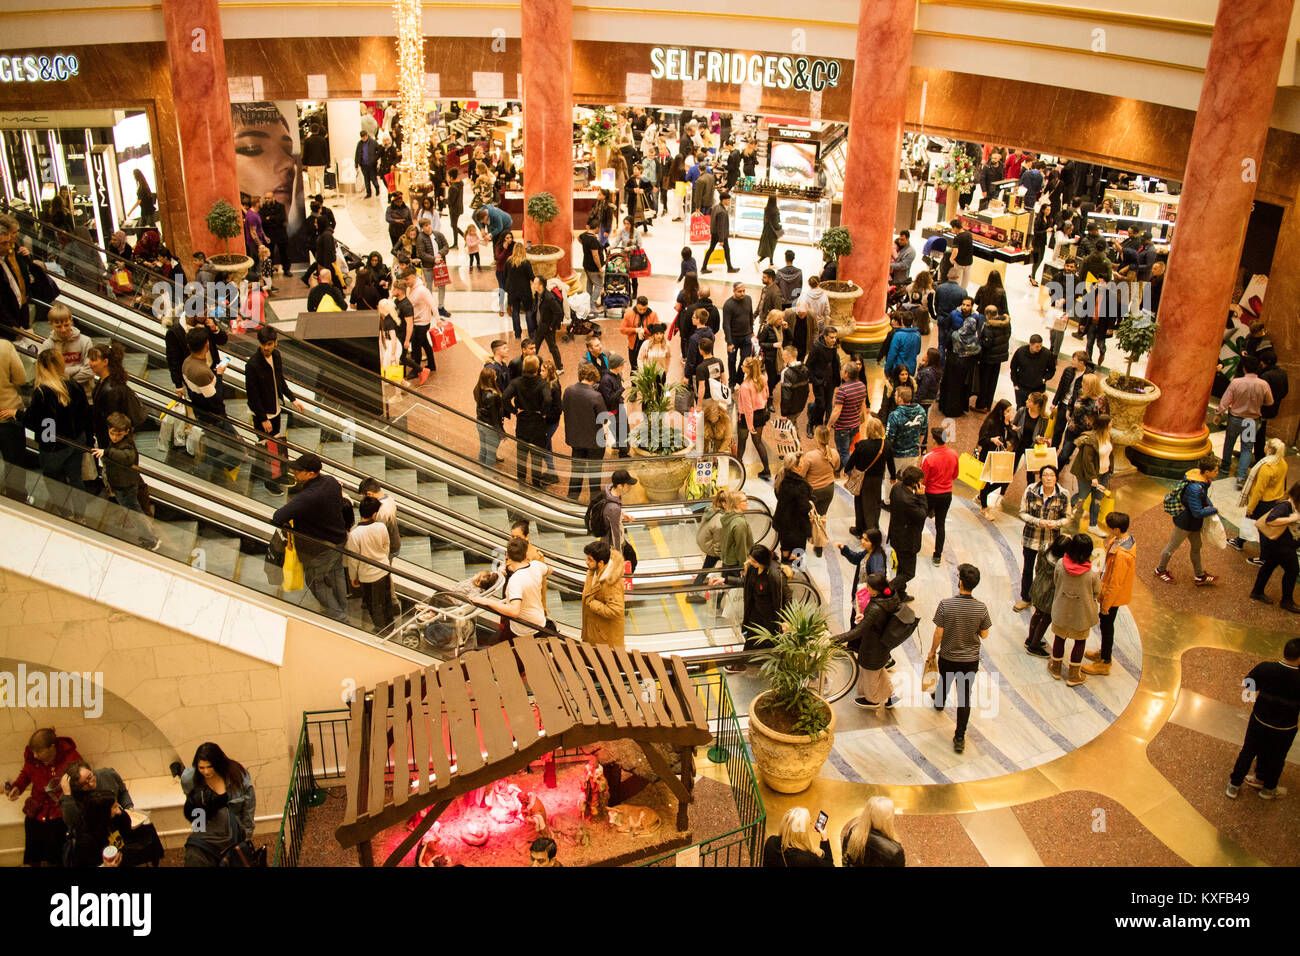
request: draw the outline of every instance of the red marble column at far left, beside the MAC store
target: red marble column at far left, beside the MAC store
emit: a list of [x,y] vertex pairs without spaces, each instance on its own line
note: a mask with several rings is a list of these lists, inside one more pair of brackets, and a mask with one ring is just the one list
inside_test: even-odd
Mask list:
[[[162,21],[177,104],[179,179],[185,183],[190,242],[212,255],[224,251],[204,225],[212,204],[224,198],[239,208],[221,13],[217,0],[168,0],[162,4]],[[230,241],[230,251],[244,251],[242,235]]]

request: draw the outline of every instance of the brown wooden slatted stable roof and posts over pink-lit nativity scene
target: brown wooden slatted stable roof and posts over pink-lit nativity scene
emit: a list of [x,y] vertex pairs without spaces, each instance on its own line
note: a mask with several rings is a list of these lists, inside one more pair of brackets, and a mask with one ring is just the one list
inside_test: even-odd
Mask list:
[[[432,806],[384,861],[396,866],[458,796],[551,750],[619,739],[633,740],[677,797],[684,830],[694,749],[710,737],[680,657],[515,637],[358,691],[348,721],[347,808],[334,836],[372,866],[376,834]],[[677,752],[680,777],[660,747]]]

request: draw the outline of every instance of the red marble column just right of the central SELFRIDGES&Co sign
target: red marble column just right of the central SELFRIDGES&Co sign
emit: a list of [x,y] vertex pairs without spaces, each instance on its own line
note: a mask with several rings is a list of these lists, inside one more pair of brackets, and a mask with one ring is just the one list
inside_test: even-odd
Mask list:
[[853,252],[840,260],[836,274],[862,286],[854,316],[859,329],[868,325],[880,330],[876,341],[884,338],[883,328],[888,326],[885,297],[914,10],[911,0],[861,0],[858,5],[858,49],[853,62],[853,105],[840,217],[840,225],[853,237]]

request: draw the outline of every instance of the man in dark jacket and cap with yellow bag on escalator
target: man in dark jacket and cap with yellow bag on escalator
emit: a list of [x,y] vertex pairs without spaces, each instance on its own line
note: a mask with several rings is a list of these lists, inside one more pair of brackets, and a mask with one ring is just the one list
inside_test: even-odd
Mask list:
[[334,620],[347,620],[347,574],[343,551],[355,516],[352,502],[343,494],[338,479],[321,475],[318,455],[306,454],[289,470],[298,492],[276,509],[270,523],[286,528],[292,522],[294,546],[303,562],[303,576],[322,613]]

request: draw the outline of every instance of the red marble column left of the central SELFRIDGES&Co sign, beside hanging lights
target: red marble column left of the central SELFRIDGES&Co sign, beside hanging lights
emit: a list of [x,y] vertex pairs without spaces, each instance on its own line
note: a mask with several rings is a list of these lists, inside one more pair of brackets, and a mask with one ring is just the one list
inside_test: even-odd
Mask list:
[[[524,198],[550,193],[560,215],[546,225],[546,245],[564,256],[556,274],[568,276],[573,246],[573,4],[528,0],[521,7],[524,74]],[[524,220],[524,237],[541,230]]]

